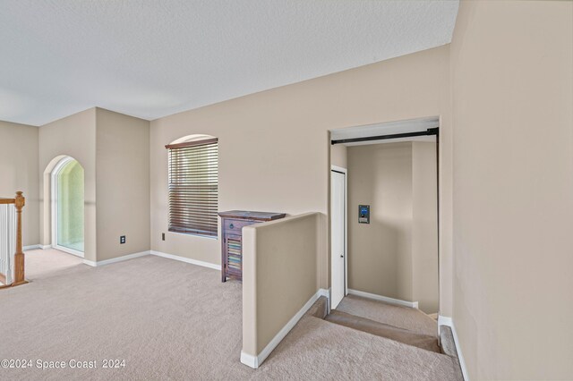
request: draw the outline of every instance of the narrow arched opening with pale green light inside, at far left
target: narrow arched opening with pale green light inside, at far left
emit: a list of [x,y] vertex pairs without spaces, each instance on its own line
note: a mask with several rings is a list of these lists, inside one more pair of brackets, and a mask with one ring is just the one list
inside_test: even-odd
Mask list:
[[83,258],[84,174],[73,157],[61,158],[51,172],[52,247]]

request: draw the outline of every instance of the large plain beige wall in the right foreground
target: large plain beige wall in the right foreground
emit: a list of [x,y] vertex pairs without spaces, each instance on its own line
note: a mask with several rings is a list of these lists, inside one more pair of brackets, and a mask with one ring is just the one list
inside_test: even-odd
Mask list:
[[573,377],[573,3],[463,1],[454,322],[472,379]]

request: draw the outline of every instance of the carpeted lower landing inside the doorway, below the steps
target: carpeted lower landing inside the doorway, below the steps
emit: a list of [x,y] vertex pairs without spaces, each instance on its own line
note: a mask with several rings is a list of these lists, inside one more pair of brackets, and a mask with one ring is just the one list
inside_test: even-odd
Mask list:
[[347,295],[338,304],[337,310],[390,326],[398,326],[398,328],[404,328],[416,334],[438,337],[438,323],[436,320],[430,318],[419,309],[395,306],[356,295]]

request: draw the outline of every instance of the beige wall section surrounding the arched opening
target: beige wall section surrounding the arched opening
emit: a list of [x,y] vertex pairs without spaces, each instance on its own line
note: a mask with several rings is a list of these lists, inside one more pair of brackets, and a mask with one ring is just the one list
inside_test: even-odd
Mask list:
[[95,261],[96,242],[96,109],[90,108],[39,127],[40,240],[52,243],[50,172],[57,158],[76,159],[84,170],[84,258]]

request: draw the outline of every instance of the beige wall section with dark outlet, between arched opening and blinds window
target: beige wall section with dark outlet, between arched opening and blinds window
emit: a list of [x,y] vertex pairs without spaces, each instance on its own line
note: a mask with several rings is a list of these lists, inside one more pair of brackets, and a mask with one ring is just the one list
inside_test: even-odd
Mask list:
[[102,108],[96,119],[99,261],[150,250],[150,122]]

